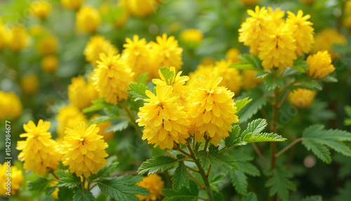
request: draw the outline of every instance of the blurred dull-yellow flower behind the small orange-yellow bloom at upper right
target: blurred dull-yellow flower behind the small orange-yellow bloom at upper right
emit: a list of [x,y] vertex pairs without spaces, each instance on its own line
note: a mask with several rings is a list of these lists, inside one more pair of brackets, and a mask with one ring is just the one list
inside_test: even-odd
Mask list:
[[346,44],[345,37],[340,34],[338,30],[329,28],[318,32],[314,37],[314,40],[316,42],[312,48],[312,53],[317,53],[318,51],[328,51],[331,54],[332,59],[338,58],[338,54],[335,51],[331,50],[331,47],[334,44]]

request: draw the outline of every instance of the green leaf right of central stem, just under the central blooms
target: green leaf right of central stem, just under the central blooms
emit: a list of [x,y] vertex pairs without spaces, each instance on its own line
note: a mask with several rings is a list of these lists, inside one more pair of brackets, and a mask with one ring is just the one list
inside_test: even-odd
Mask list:
[[222,164],[227,167],[227,169],[237,169],[237,163],[234,158],[223,152],[219,153],[218,150],[209,150],[208,152],[206,150],[200,150],[197,153],[197,157],[199,157],[204,169],[208,169],[210,164],[212,166]]

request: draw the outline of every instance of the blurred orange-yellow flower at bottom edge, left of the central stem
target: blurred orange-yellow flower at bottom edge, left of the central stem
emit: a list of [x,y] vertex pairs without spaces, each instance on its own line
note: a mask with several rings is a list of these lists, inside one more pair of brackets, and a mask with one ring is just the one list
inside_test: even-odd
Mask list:
[[159,200],[163,195],[162,189],[164,189],[164,181],[162,181],[161,176],[158,176],[157,174],[145,176],[143,180],[139,181],[136,185],[150,191],[150,195],[136,195],[140,200]]

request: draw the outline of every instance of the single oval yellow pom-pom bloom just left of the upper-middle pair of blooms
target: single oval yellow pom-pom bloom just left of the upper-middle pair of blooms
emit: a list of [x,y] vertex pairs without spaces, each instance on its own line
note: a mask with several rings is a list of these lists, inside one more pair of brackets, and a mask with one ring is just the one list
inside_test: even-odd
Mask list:
[[128,84],[133,82],[133,72],[126,65],[126,61],[120,59],[120,55],[114,55],[112,51],[108,55],[100,54],[101,61],[94,70],[93,80],[99,96],[106,102],[117,105],[117,101],[128,98]]

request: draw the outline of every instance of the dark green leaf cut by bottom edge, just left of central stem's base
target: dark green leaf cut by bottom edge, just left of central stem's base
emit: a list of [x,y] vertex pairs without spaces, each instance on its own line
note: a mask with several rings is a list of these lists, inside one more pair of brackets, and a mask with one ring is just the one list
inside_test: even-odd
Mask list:
[[162,190],[162,193],[167,196],[164,201],[197,201],[199,188],[195,181],[189,180],[189,188],[184,186],[178,192],[166,188]]

